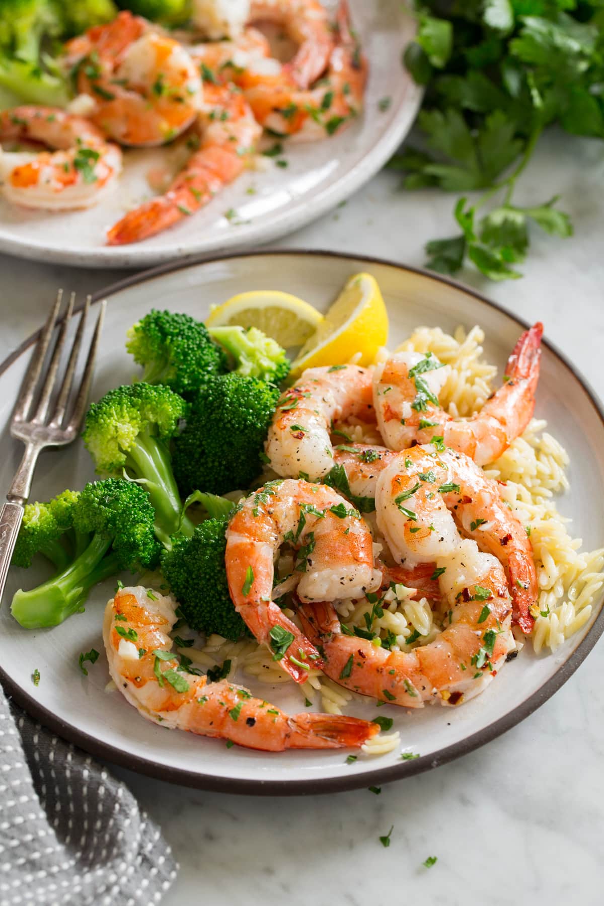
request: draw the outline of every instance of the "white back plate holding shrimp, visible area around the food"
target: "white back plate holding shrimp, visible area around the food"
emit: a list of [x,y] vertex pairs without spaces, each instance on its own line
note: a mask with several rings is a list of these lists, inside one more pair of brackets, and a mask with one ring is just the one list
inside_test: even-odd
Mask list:
[[[369,82],[365,110],[349,129],[312,144],[286,143],[286,169],[271,160],[266,172],[244,173],[194,217],[186,217],[166,232],[137,245],[105,246],[108,227],[152,194],[149,171],[174,158],[170,149],[130,149],[118,188],[91,210],[26,210],[0,197],[0,251],[68,265],[147,267],[260,245],[349,198],[405,138],[422,93],[402,64],[402,54],[415,32],[403,4],[350,0],[350,12],[369,59]],[[385,97],[390,98],[390,106],[380,111],[379,101]],[[247,193],[251,187],[254,195]],[[237,217],[225,217],[230,209]]]

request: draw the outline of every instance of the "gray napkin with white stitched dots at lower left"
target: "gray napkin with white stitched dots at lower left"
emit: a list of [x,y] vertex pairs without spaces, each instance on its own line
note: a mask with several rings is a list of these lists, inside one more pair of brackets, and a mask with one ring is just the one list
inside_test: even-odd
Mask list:
[[147,906],[176,872],[129,789],[0,689],[0,906]]

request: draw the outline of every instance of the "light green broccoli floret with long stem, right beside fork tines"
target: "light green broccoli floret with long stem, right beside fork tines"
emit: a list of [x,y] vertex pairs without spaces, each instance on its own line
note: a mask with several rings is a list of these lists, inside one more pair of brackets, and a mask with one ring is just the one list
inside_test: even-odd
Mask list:
[[163,545],[193,523],[182,516],[168,441],[176,433],[187,403],[168,387],[139,383],[117,387],[92,403],[82,437],[101,474],[139,481],[155,509],[155,530]]

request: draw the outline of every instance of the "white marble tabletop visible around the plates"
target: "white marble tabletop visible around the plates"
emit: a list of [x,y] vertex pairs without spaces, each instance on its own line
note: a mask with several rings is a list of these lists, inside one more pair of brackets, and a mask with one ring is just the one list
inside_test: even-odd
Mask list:
[[[274,247],[330,248],[424,262],[428,238],[452,235],[453,198],[401,194],[383,174]],[[526,204],[562,196],[576,236],[533,236],[523,280],[465,279],[577,362],[604,396],[604,158],[601,142],[546,138],[523,178]],[[81,292],[120,276],[0,256],[0,359],[37,327],[58,284]],[[428,774],[323,797],[200,793],[116,769],[161,824],[181,868],[166,906],[289,906],[488,901],[604,901],[604,645],[504,737]],[[379,843],[394,824],[389,849]],[[422,867],[428,855],[438,862]]]

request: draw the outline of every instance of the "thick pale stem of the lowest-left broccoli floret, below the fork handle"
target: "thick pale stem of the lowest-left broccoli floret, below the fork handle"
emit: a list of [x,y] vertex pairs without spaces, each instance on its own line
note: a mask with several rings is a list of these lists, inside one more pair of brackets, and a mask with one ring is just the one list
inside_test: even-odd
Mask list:
[[111,540],[93,535],[83,554],[61,573],[28,592],[19,589],[11,605],[14,619],[24,629],[43,629],[82,611],[92,585],[120,572],[117,555],[107,554]]

